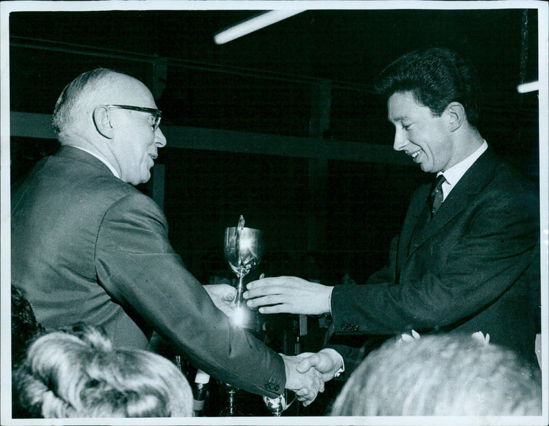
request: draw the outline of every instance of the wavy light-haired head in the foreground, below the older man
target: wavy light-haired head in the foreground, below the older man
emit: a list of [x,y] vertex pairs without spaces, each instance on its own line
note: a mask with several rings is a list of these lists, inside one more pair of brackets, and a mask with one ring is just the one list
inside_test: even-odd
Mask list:
[[113,348],[104,333],[78,325],[38,338],[14,377],[33,417],[186,417],[192,392],[169,360]]

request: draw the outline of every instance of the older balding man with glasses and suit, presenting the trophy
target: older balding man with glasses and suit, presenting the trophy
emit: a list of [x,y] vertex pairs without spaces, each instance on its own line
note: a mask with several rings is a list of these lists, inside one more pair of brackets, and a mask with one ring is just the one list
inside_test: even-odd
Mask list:
[[299,358],[233,326],[174,252],[159,206],[132,186],[166,144],[160,119],[129,75],[94,69],[65,87],[53,116],[60,150],[12,191],[12,283],[47,329],[83,321],[135,348],[156,331],[216,379],[267,397],[296,390],[307,405],[323,390],[319,373],[298,373]]

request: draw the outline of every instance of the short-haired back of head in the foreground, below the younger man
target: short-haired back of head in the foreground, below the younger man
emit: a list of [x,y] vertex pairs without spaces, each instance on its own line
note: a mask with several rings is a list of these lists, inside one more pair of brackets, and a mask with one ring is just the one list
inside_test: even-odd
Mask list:
[[470,335],[390,341],[345,383],[332,416],[539,416],[541,379],[517,354]]

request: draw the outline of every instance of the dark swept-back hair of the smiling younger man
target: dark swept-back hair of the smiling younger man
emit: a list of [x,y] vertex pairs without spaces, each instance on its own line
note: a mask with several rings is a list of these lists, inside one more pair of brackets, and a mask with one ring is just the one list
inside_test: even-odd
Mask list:
[[478,125],[480,83],[476,71],[449,49],[434,47],[404,54],[380,73],[375,88],[387,98],[396,92],[410,91],[436,117],[451,102],[459,102],[469,124]]

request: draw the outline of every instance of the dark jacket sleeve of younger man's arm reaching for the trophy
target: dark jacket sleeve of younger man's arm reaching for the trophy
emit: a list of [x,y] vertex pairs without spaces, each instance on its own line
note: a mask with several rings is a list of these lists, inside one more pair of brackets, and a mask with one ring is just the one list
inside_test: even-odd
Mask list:
[[[389,268],[371,285],[336,285],[331,295],[336,333],[430,331],[484,309],[533,261],[537,206],[537,198],[509,187],[469,200],[463,213],[406,259],[398,284]],[[395,253],[391,257],[394,263]]]

